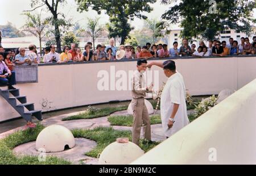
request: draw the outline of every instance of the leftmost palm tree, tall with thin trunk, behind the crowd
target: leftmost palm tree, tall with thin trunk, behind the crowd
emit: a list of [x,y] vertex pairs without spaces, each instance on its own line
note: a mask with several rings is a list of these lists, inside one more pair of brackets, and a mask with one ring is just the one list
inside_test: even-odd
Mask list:
[[48,27],[50,18],[41,19],[41,13],[32,15],[26,12],[23,15],[27,16],[27,21],[23,26],[23,31],[30,32],[39,39],[40,55],[42,55],[42,39],[47,35],[46,28]]

